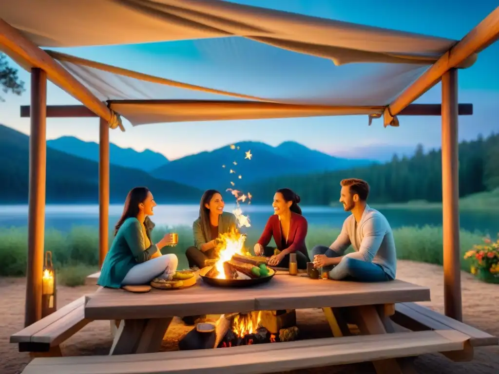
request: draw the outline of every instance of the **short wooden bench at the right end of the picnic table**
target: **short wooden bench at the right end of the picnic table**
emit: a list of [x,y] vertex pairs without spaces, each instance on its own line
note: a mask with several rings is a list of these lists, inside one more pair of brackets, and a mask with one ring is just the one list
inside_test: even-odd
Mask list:
[[391,319],[396,324],[412,331],[458,331],[470,337],[472,347],[496,346],[499,344],[499,340],[495,336],[416,303],[396,304],[395,314]]

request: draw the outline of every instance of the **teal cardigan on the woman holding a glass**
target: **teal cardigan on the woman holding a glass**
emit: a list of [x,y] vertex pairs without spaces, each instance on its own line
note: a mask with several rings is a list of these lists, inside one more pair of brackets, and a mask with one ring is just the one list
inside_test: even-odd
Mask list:
[[145,248],[141,223],[137,218],[127,218],[107,252],[97,284],[102,287],[120,288],[130,269],[149,260],[157,250],[156,245],[152,243],[149,248]]

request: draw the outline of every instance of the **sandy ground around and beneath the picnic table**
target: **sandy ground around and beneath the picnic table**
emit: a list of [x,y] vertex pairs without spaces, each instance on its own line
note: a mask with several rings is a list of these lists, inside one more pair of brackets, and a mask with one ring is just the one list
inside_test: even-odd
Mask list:
[[[442,267],[411,261],[399,261],[399,279],[430,287],[432,302],[424,303],[443,313],[443,271]],[[469,325],[499,336],[499,286],[485,284],[462,273],[464,321]],[[9,343],[9,336],[22,329],[24,321],[24,279],[0,279],[0,373],[16,374],[29,362],[29,355],[19,353],[15,344]],[[77,288],[58,287],[60,306],[91,293],[96,286]],[[320,310],[297,311],[297,325],[300,332],[309,337],[331,336],[327,322]],[[182,321],[174,320],[168,330],[168,339],[162,350],[176,350],[178,340],[188,331]],[[109,322],[95,321],[87,325],[61,347],[64,356],[106,355],[111,347],[112,337]],[[417,358],[414,366],[418,373],[425,374],[473,374],[499,373],[499,347],[478,348],[471,363],[454,363],[442,355],[425,355]],[[298,373],[291,372],[291,373]],[[299,373],[375,373],[370,363],[334,368],[300,370]]]

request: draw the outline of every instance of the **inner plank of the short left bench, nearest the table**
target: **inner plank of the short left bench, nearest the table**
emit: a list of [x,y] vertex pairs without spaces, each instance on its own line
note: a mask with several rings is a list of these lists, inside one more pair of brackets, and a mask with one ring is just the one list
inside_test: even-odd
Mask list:
[[43,330],[38,331],[31,337],[31,342],[46,343],[51,346],[59,345],[91,322],[85,319],[84,315],[85,306],[82,304]]

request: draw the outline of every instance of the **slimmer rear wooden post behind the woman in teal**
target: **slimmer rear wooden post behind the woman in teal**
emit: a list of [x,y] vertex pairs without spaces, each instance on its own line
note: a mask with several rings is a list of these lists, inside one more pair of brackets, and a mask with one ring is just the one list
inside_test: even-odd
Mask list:
[[99,269],[109,243],[109,124],[99,124]]

